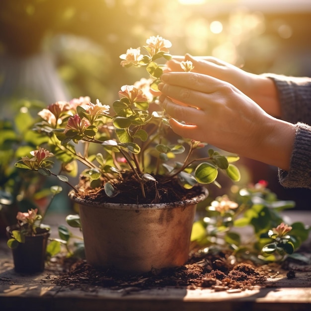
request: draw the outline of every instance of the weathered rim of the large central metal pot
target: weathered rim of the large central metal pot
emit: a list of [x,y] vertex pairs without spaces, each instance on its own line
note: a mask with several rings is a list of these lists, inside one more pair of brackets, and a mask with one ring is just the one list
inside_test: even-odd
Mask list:
[[167,208],[180,208],[186,207],[189,205],[195,205],[199,202],[202,202],[208,197],[209,191],[205,187],[202,188],[202,193],[186,200],[169,202],[169,203],[146,203],[146,204],[133,204],[133,203],[107,203],[107,202],[94,202],[91,200],[81,199],[77,196],[77,193],[74,190],[71,190],[68,194],[69,198],[74,202],[84,205],[90,206],[94,208],[105,208],[105,209],[116,209],[116,210],[159,210],[159,209],[167,209]]

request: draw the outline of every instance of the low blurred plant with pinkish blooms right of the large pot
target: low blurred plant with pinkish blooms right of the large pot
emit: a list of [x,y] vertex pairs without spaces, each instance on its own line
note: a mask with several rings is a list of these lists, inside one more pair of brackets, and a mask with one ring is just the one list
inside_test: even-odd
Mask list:
[[231,198],[224,195],[212,201],[193,225],[192,242],[201,251],[230,250],[237,260],[263,263],[293,257],[308,261],[296,251],[310,228],[302,222],[289,226],[282,211],[293,208],[295,202],[279,200],[266,186],[260,181],[238,189]]

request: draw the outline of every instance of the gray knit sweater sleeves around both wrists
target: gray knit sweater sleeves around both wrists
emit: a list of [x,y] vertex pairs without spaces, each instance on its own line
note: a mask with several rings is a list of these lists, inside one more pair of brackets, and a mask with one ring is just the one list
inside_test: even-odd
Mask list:
[[296,124],[290,170],[279,169],[280,183],[287,188],[311,189],[311,78],[265,76],[277,87],[281,118]]

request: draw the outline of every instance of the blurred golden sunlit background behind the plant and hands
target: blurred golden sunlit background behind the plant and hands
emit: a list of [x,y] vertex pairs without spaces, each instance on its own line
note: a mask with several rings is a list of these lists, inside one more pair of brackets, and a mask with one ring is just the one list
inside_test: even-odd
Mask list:
[[[12,118],[25,101],[39,107],[88,95],[111,104],[138,78],[119,55],[152,35],[170,40],[175,55],[311,77],[310,21],[310,0],[0,0],[0,116]],[[311,190],[282,188],[276,167],[243,158],[237,165],[241,183],[267,180],[279,198],[310,209]]]

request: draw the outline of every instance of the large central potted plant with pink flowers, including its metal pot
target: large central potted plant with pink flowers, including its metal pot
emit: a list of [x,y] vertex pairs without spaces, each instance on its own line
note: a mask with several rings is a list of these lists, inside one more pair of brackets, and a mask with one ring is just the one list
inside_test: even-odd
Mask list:
[[218,184],[219,170],[239,179],[231,163],[237,156],[203,153],[206,144],[176,136],[157,105],[160,60],[171,58],[170,47],[153,36],[146,54],[130,48],[120,56],[122,66],[144,67],[149,78],[122,86],[112,109],[80,97],[39,112],[35,131],[49,137],[48,147],[15,164],[68,184],[52,172],[51,157],[63,172],[77,171],[77,161],[86,166],[69,195],[79,204],[86,260],[94,266],[144,272],[184,264],[196,205],[208,195],[202,184]]

